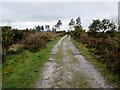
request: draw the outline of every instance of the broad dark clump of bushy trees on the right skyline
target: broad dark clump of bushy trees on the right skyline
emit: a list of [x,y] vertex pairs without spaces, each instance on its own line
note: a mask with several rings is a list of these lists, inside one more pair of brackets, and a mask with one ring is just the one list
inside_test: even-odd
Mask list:
[[116,25],[114,22],[110,22],[108,19],[103,19],[102,21],[99,19],[93,20],[92,24],[89,26],[89,33],[95,37],[101,37],[101,35],[105,36],[104,34],[100,34],[98,32],[107,32],[110,35],[114,36],[116,32]]

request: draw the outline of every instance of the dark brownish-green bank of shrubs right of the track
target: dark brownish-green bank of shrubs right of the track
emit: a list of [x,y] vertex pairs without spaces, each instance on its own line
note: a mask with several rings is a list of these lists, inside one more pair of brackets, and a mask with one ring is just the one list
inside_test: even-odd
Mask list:
[[86,45],[94,57],[105,64],[108,71],[118,76],[120,80],[120,32],[84,32],[78,28],[71,32],[71,36]]

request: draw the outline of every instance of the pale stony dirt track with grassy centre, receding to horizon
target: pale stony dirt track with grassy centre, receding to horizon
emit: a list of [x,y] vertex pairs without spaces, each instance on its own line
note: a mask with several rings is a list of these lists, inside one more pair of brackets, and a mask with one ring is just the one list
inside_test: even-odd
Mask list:
[[53,47],[37,88],[109,88],[100,73],[65,36]]

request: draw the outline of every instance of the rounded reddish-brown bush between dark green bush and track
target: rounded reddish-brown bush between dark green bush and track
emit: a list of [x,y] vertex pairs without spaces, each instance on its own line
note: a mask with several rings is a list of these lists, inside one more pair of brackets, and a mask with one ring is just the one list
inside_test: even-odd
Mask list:
[[31,51],[39,51],[40,49],[45,48],[47,43],[54,40],[56,37],[56,34],[50,32],[29,34],[24,41],[25,48]]

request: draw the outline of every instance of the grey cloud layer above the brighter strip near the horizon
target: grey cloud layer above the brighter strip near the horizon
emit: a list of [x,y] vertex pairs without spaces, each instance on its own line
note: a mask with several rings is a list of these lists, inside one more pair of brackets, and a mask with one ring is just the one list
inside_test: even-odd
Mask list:
[[106,17],[117,13],[116,2],[3,2],[3,22],[52,21],[78,16]]

